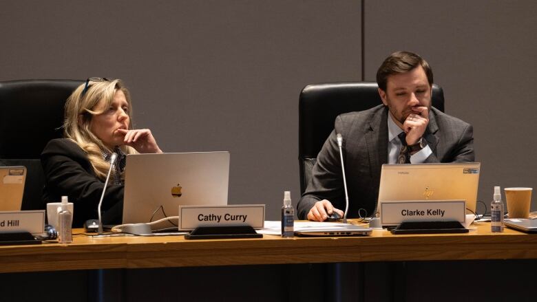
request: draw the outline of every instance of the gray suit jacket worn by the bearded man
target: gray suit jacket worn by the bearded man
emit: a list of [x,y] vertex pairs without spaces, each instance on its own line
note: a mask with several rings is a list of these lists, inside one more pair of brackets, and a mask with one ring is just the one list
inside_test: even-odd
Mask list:
[[[345,211],[345,193],[336,133],[343,136],[349,209],[347,217],[372,216],[379,196],[382,164],[388,162],[388,108],[384,105],[341,114],[335,129],[324,142],[311,180],[297,204],[299,219],[307,219],[310,208],[322,199]],[[431,108],[429,125],[423,134],[432,154],[425,162],[473,162],[472,125]]]

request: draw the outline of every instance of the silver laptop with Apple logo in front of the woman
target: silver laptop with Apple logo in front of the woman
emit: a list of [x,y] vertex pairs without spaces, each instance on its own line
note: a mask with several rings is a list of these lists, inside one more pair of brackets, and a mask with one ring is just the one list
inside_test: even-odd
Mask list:
[[229,152],[127,155],[123,224],[177,216],[179,205],[226,205],[228,182]]

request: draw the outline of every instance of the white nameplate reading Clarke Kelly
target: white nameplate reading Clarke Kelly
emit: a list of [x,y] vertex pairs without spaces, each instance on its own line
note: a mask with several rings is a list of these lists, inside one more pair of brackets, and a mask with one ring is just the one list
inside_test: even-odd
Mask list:
[[397,226],[401,222],[466,221],[465,200],[381,201],[382,226]]

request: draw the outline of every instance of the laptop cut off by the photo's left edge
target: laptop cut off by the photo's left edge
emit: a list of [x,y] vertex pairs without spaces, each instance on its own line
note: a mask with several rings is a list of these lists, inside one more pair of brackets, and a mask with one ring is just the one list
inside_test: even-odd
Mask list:
[[21,211],[25,166],[0,166],[0,211]]

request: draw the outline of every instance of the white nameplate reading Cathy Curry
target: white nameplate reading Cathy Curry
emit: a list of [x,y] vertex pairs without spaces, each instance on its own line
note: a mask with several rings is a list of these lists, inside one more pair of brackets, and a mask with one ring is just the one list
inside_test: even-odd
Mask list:
[[227,206],[179,206],[179,230],[198,226],[251,226],[263,228],[264,204],[233,204]]

